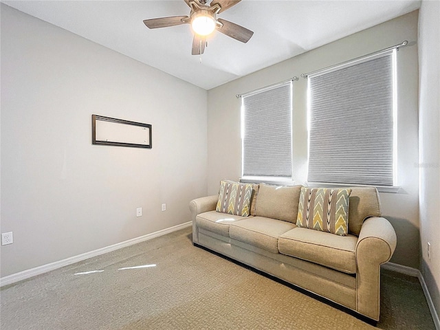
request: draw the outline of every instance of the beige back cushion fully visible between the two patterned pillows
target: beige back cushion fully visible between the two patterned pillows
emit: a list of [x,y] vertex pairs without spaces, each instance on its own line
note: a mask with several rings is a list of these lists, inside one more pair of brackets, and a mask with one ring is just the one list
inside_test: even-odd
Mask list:
[[260,184],[255,215],[296,223],[301,186]]

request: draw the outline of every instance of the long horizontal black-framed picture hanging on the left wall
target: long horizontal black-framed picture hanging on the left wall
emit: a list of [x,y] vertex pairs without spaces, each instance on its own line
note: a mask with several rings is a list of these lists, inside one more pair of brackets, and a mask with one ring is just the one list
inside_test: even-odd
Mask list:
[[152,148],[151,124],[91,115],[91,143]]

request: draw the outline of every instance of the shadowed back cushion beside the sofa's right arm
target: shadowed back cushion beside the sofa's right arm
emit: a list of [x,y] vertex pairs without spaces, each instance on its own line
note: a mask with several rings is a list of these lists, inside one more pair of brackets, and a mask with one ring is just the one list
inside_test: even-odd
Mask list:
[[351,187],[349,203],[349,233],[359,236],[364,220],[380,217],[379,192],[375,187]]

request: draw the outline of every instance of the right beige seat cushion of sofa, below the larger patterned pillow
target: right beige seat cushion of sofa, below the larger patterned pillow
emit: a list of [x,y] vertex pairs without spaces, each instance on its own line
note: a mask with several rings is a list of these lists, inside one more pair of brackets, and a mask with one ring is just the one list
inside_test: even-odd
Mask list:
[[357,242],[358,237],[351,234],[338,236],[297,227],[280,236],[278,250],[287,256],[295,256],[334,270],[355,274]]

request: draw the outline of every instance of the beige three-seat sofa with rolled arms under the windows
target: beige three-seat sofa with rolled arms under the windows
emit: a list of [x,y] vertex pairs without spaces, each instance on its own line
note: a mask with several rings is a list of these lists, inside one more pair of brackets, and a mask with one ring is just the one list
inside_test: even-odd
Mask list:
[[[226,192],[225,185],[228,189],[235,187],[235,192]],[[333,232],[316,230],[313,226],[319,225],[314,224],[315,219],[305,225],[306,215],[314,214],[308,209],[311,199],[318,198],[313,190],[222,180],[219,195],[190,201],[192,243],[347,307],[355,311],[354,315],[360,314],[360,318],[377,322],[380,265],[391,259],[397,241],[393,226],[381,217],[377,189],[348,188],[347,232],[342,234],[335,233],[334,227]],[[328,190],[322,191],[328,195]],[[237,215],[228,210],[225,195],[239,203],[248,201],[246,212],[241,210],[243,213]],[[234,203],[229,202],[231,206]],[[322,208],[320,202],[315,204],[316,208]],[[330,202],[328,205],[330,208]],[[326,212],[321,212],[321,217],[325,218]],[[320,225],[325,227],[323,223]]]

